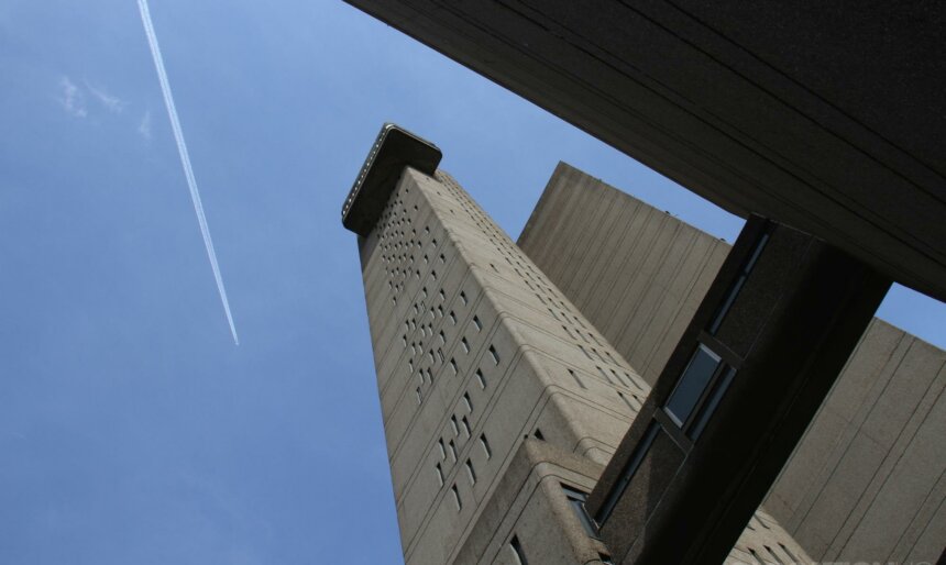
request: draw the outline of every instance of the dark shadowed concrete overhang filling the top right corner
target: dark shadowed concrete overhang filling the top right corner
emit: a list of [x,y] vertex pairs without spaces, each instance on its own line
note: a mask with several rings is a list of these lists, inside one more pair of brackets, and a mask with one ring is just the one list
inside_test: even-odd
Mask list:
[[716,204],[946,300],[943,2],[348,1]]

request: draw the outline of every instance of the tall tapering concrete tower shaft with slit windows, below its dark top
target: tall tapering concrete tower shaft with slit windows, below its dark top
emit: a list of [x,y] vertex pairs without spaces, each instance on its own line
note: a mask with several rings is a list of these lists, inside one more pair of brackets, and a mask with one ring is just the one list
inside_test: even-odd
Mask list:
[[[607,563],[569,496],[649,385],[447,173],[395,181],[359,252],[405,563]],[[758,513],[729,563],[766,547],[806,558]]]

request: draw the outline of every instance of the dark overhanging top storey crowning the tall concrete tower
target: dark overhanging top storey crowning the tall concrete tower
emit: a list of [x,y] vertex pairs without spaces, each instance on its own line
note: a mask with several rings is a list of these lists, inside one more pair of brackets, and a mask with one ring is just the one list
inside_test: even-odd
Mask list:
[[437,145],[395,123],[385,123],[342,206],[342,225],[366,236],[387,204],[404,167],[432,175],[442,156]]

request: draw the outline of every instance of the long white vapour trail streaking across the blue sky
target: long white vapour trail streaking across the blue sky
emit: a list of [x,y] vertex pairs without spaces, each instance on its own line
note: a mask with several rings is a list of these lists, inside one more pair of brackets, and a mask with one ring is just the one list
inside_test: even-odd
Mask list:
[[223,278],[220,276],[220,267],[217,265],[217,253],[213,251],[213,242],[210,240],[210,229],[207,228],[207,218],[204,215],[204,204],[200,202],[200,192],[197,191],[197,180],[194,178],[194,169],[190,168],[190,157],[187,154],[187,145],[184,143],[184,132],[177,120],[177,109],[174,107],[174,97],[170,95],[170,84],[167,73],[164,70],[164,59],[161,57],[161,48],[157,46],[157,36],[154,34],[154,25],[151,23],[151,11],[147,9],[147,0],[138,0],[141,12],[141,22],[144,24],[144,33],[147,35],[147,44],[157,69],[157,79],[161,82],[161,92],[164,95],[164,106],[167,107],[167,115],[170,119],[170,129],[174,130],[174,141],[177,143],[177,153],[180,154],[180,165],[184,167],[184,176],[187,178],[187,187],[190,189],[190,199],[194,201],[194,211],[197,213],[197,222],[200,224],[200,234],[204,235],[204,245],[207,247],[207,256],[210,258],[210,267],[213,269],[213,278],[217,280],[217,290],[220,291],[220,301],[223,302],[223,311],[227,313],[227,322],[230,323],[230,333],[233,342],[240,344],[237,337],[237,326],[233,325],[233,317],[230,314],[230,302],[227,300],[227,290],[223,288]]

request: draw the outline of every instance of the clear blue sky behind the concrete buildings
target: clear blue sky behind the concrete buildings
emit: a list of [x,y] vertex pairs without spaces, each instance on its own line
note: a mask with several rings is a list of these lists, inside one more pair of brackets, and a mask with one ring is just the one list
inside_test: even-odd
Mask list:
[[[378,128],[514,237],[558,160],[741,221],[340,2],[153,1],[233,345],[132,0],[0,2],[0,563],[398,563],[343,198]],[[880,315],[943,346],[942,303]]]

